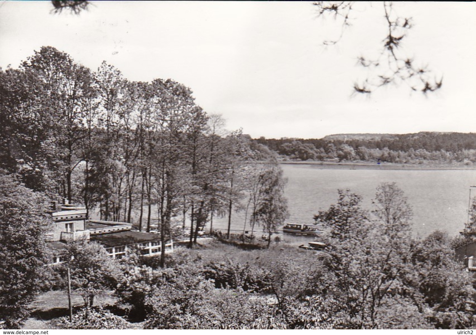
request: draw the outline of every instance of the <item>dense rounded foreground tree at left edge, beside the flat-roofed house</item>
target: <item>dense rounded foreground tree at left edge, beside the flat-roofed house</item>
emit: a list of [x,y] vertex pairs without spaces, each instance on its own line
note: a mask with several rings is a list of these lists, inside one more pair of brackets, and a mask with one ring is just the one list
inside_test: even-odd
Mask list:
[[0,170],[0,319],[19,328],[30,315],[47,262],[45,197]]

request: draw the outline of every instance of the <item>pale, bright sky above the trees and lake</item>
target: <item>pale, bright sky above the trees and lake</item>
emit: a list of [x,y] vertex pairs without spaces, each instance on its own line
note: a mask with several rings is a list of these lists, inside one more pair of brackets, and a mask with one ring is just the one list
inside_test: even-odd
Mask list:
[[[352,95],[387,32],[382,2],[359,4],[339,22],[307,1],[91,1],[73,15],[50,1],[0,1],[0,67],[18,68],[53,46],[96,70],[125,78],[174,79],[226,128],[253,138],[322,138],[342,133],[475,132],[476,2],[395,3],[414,26],[402,52],[428,66],[442,89],[427,96],[405,83]],[[370,73],[371,74],[371,73]]]

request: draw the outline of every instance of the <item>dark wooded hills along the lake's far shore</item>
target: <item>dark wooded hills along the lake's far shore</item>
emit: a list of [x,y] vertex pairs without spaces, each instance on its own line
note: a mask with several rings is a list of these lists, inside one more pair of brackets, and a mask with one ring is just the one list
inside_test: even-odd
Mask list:
[[338,134],[324,138],[264,138],[259,144],[286,159],[364,161],[470,166],[476,162],[476,133]]

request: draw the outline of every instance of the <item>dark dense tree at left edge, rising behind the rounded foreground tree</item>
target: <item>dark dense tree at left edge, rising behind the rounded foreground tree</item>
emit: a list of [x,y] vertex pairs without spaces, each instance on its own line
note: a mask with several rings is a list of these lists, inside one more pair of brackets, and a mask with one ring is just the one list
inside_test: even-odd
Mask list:
[[36,73],[0,70],[0,168],[19,173],[27,187],[54,190],[47,164],[54,119]]

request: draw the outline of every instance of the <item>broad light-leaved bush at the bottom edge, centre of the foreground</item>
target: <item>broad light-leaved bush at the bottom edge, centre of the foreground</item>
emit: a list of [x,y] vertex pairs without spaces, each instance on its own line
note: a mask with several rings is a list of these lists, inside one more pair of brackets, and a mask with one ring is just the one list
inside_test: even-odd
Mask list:
[[[216,289],[203,278],[181,277],[161,287],[153,298],[147,329],[250,329],[257,320],[272,318],[274,306],[242,290]],[[281,326],[282,327],[282,326]]]

